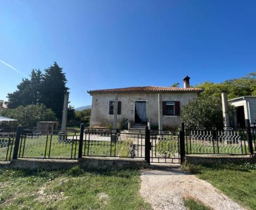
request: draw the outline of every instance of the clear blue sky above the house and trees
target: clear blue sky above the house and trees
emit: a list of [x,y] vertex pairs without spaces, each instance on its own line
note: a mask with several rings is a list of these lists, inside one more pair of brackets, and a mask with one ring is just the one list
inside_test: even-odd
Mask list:
[[0,0],[0,99],[54,61],[74,107],[91,104],[87,90],[245,76],[256,70],[255,9],[244,0]]

